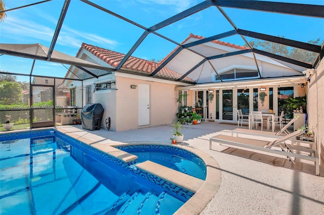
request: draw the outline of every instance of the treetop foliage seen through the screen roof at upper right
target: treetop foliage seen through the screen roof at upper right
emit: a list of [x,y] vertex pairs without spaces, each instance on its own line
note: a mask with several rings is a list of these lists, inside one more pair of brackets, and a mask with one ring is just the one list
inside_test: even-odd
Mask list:
[[[281,37],[285,38],[284,36]],[[324,40],[320,40],[320,38],[317,38],[316,40],[309,40],[307,43],[321,45],[323,42]],[[306,63],[314,62],[317,57],[317,53],[315,52],[266,40],[252,39],[249,41],[249,43],[253,48]],[[245,46],[248,47],[248,44],[245,44]]]

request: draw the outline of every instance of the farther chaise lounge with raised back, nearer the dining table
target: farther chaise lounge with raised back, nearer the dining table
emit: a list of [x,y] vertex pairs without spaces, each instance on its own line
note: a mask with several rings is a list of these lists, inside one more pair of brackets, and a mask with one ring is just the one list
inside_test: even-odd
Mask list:
[[280,134],[286,133],[290,134],[290,132],[287,130],[289,126],[291,126],[296,120],[298,116],[293,118],[285,127],[283,127],[280,131],[278,132],[270,132],[270,131],[260,131],[260,130],[251,130],[251,129],[243,129],[243,128],[236,128],[232,130],[232,136],[236,134],[236,137],[238,134],[250,134],[250,135],[256,135],[256,136],[262,136],[262,137],[272,137],[272,138],[279,138]]

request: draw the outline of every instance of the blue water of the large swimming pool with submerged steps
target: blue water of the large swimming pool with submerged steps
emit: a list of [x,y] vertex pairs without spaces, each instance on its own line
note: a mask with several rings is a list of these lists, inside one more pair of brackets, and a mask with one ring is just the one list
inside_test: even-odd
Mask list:
[[54,130],[0,147],[1,214],[173,214],[193,195]]

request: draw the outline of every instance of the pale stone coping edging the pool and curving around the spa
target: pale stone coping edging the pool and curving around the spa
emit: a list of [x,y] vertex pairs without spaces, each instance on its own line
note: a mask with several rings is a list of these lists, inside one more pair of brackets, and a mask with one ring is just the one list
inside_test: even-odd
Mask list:
[[[165,180],[170,181],[180,187],[195,191],[195,194],[188,201],[186,201],[174,214],[199,214],[201,211],[204,210],[204,208],[212,200],[212,198],[215,196],[215,194],[217,193],[217,191],[219,189],[219,186],[221,183],[221,170],[220,170],[220,167],[219,167],[217,161],[208,153],[201,151],[200,149],[184,145],[184,143],[172,144],[170,142],[160,142],[160,141],[106,142],[105,139],[101,139],[98,141],[98,139],[100,139],[99,135],[95,135],[95,136],[98,136],[98,139],[94,138],[93,140],[91,140],[91,139],[84,137],[84,134],[85,134],[85,132],[87,133],[87,131],[80,130],[80,129],[71,131],[71,130],[65,130],[65,129],[59,128],[59,127],[49,127],[49,128],[41,128],[41,129],[26,129],[26,130],[27,131],[46,130],[46,129],[51,129],[51,128],[54,130],[57,130],[61,133],[64,133],[65,135],[68,135],[69,137],[77,139],[85,144],[88,144],[100,151],[108,153],[109,155],[111,155],[113,157],[123,160],[123,162],[125,162],[125,163],[128,163],[128,162],[136,159],[137,156],[132,155],[127,152],[124,152],[122,150],[119,150],[119,149],[115,148],[114,146],[139,145],[139,144],[168,145],[168,146],[182,148],[184,150],[190,151],[191,153],[199,156],[201,159],[204,160],[204,162],[206,164],[207,176],[206,176],[205,181],[192,180],[192,178],[194,178],[192,176],[188,176],[189,181],[187,181],[186,179],[185,180],[176,180],[176,178],[179,176],[179,174],[177,174],[177,176],[174,175],[173,177],[171,174],[171,176],[166,177],[164,175],[159,174],[158,172],[154,173],[154,168],[149,167],[149,165],[151,165],[153,162],[146,163],[148,166],[147,165],[139,166],[139,168],[141,168],[141,169],[143,168],[144,170],[147,169],[150,173],[156,174],[157,176],[164,178]],[[20,130],[20,131],[15,131],[15,132],[24,132],[26,130]],[[156,165],[158,165],[158,164],[154,163],[153,165],[156,167]],[[171,170],[171,169],[169,169],[169,170],[170,170],[170,172],[174,173],[173,172],[174,170]],[[177,172],[177,171],[175,171],[175,172]],[[191,180],[190,180],[190,177],[191,177]],[[201,182],[201,181],[203,181],[203,182]],[[189,184],[190,182],[193,184]]]

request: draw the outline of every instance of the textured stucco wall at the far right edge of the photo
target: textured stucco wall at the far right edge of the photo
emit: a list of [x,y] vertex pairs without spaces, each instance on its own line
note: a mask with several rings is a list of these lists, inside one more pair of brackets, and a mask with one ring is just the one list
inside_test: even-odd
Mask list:
[[324,162],[324,59],[316,68],[316,73],[308,83],[308,124],[314,128],[314,138],[321,163]]

